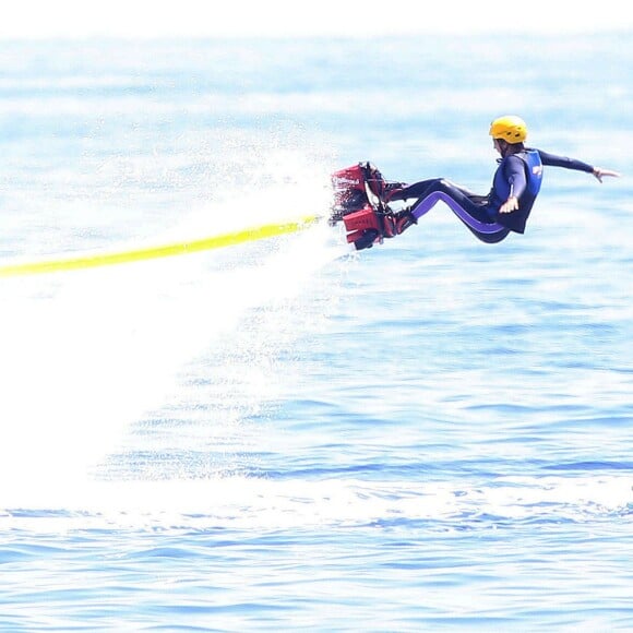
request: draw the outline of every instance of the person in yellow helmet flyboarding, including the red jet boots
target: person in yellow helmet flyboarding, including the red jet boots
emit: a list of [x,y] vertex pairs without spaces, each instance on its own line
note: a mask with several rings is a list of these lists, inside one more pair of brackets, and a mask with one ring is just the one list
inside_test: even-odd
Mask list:
[[[501,158],[498,159],[499,165],[488,194],[479,195],[445,178],[421,180],[414,184],[387,182],[371,164],[359,164],[367,203],[360,194],[360,184],[351,183],[349,177],[353,168],[338,171],[333,175],[336,192],[333,218],[344,220],[348,241],[361,250],[384,237],[401,235],[417,224],[438,202],[443,202],[478,239],[497,243],[511,231],[525,232],[527,219],[540,191],[545,166],[585,171],[599,182],[605,177],[620,176],[611,169],[527,147],[527,126],[514,115],[494,119],[489,134]],[[353,195],[349,195],[350,191]],[[409,200],[414,200],[413,204],[402,211],[392,211],[391,205],[395,201],[408,203]],[[370,208],[374,214],[373,222]]]

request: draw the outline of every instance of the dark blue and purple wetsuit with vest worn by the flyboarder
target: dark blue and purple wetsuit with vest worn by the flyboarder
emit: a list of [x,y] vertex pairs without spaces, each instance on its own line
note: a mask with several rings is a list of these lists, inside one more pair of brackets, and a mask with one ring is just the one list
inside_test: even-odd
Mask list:
[[[504,239],[510,231],[525,232],[527,218],[540,190],[545,165],[589,174],[594,170],[592,165],[575,158],[524,148],[499,160],[488,195],[477,195],[443,178],[432,178],[395,190],[389,201],[416,198],[417,201],[410,207],[415,220],[442,201],[476,237],[494,243]],[[501,205],[511,195],[517,198],[518,208],[511,213],[499,213]]]

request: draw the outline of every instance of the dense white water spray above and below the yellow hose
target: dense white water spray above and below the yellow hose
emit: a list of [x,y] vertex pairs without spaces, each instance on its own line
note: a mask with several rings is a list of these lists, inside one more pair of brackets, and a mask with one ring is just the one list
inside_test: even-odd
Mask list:
[[[315,170],[285,152],[268,168],[287,172],[285,162],[292,162],[292,182],[192,210],[155,243],[326,213]],[[83,480],[132,422],[164,404],[184,363],[214,342],[239,338],[249,309],[302,291],[314,271],[343,252],[321,224],[223,251],[3,279],[0,477],[12,481],[7,489]]]

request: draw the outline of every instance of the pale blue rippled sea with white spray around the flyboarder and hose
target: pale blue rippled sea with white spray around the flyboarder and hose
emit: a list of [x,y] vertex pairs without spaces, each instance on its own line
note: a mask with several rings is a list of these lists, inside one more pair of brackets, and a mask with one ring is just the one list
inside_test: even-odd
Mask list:
[[0,278],[1,631],[633,629],[630,34],[0,46],[0,264],[325,214],[329,174],[486,192]]

